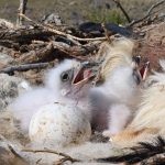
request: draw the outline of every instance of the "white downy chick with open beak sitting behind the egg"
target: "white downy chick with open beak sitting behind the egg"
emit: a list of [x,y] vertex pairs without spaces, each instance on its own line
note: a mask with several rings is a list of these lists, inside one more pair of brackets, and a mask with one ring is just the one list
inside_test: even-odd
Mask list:
[[[86,84],[88,78],[84,78],[84,72],[77,74],[76,68],[79,67],[79,62],[66,59],[46,74],[44,87],[34,88],[15,99],[10,109],[20,121],[24,132],[29,131],[32,116],[47,103],[70,103],[73,107],[80,107],[89,116],[86,103],[86,94],[89,88]],[[75,76],[76,74],[77,76]],[[78,84],[81,80],[82,82]]]

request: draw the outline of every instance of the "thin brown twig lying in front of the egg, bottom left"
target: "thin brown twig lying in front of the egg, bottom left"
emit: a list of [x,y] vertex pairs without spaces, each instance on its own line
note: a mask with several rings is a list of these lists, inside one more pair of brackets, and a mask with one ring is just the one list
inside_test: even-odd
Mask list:
[[67,154],[64,154],[64,153],[61,153],[61,152],[56,152],[56,151],[53,151],[53,150],[32,150],[32,148],[24,148],[24,150],[22,150],[22,152],[56,154],[56,155],[63,156],[65,161],[70,161],[72,163],[74,163],[74,162],[80,162],[80,160],[73,158],[73,157],[70,157],[70,156],[67,155]]

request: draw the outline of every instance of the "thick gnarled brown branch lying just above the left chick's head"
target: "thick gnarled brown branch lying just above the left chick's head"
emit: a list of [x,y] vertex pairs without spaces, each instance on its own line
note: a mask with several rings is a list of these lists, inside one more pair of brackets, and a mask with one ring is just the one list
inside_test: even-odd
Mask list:
[[[36,43],[36,42],[35,42]],[[95,51],[98,51],[98,47],[101,42],[90,42],[85,45],[75,45],[70,46],[63,42],[44,42],[45,45],[43,48],[38,48],[36,51],[30,51],[29,53],[22,54],[16,62],[21,64],[26,63],[37,63],[44,62],[45,59],[52,58],[61,58],[64,56],[74,57],[79,61],[87,61],[88,55],[92,54]]]

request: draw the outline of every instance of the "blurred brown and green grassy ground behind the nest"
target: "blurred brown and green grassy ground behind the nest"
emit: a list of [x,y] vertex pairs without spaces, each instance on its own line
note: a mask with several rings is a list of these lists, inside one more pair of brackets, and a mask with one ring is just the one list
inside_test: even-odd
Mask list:
[[[136,19],[143,16],[156,1],[158,0],[121,0],[120,2],[130,18]],[[15,22],[19,2],[20,0],[0,0],[0,18]],[[161,12],[165,12],[165,9]],[[127,21],[112,0],[29,0],[26,15],[31,19],[41,21],[43,15],[51,13],[58,13],[68,25],[76,25],[84,21],[118,24],[124,24]]]

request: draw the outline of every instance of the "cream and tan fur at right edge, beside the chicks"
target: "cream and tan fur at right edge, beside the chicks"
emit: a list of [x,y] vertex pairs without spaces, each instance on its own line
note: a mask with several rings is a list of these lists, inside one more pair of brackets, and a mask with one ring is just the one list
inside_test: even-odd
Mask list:
[[144,90],[135,118],[125,130],[111,138],[113,144],[127,147],[138,142],[150,142],[157,135],[165,136],[165,61],[160,64],[163,73],[154,73],[148,78],[151,86]]

